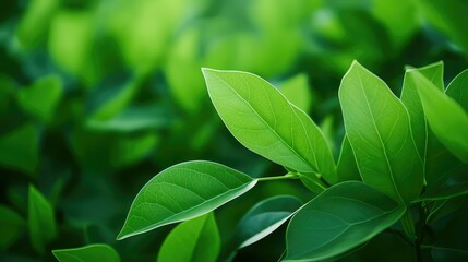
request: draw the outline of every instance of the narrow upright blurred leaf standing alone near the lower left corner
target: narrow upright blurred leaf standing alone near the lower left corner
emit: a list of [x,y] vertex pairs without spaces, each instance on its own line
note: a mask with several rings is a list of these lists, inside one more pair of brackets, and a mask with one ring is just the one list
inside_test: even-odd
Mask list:
[[29,186],[27,222],[33,248],[44,253],[46,245],[57,236],[56,218],[49,201],[34,186]]

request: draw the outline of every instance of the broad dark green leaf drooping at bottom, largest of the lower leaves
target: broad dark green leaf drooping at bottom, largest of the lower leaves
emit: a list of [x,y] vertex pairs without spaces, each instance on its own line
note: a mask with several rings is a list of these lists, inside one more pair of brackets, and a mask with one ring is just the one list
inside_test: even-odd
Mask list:
[[405,210],[362,182],[335,184],[290,221],[285,261],[321,261],[341,254],[392,226]]

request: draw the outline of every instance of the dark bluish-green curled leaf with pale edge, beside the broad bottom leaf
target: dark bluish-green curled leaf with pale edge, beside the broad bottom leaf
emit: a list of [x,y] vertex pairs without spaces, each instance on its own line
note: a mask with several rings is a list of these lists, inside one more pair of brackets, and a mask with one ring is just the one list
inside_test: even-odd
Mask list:
[[276,195],[256,203],[239,222],[235,241],[238,249],[252,245],[289,219],[302,203],[290,195]]

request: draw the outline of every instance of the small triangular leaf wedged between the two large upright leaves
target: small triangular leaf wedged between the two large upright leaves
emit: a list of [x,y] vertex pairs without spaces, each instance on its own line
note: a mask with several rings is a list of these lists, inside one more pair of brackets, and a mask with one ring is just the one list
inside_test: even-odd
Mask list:
[[352,152],[352,147],[351,144],[349,144],[347,135],[343,139],[338,165],[336,166],[336,176],[338,176],[339,182],[361,180],[361,175],[359,174],[359,169],[356,164],[355,153]]

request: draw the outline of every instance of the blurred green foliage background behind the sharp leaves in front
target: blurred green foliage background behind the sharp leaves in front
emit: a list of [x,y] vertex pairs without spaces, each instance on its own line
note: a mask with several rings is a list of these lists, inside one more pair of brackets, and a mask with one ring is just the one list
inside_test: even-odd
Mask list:
[[[466,14],[463,0],[2,2],[0,260],[53,261],[52,249],[103,242],[123,261],[155,261],[171,226],[115,238],[158,171],[208,159],[253,177],[283,175],[227,132],[202,67],[271,81],[320,123],[337,154],[337,88],[351,61],[397,94],[407,64],[443,60],[449,80],[468,68]],[[216,212],[224,246],[249,207],[278,193],[310,198],[299,183],[260,184]],[[389,242],[409,249],[382,234],[349,260],[412,258]],[[276,261],[281,250],[279,230],[236,260]]]

